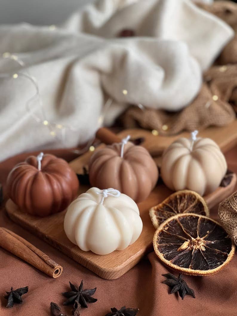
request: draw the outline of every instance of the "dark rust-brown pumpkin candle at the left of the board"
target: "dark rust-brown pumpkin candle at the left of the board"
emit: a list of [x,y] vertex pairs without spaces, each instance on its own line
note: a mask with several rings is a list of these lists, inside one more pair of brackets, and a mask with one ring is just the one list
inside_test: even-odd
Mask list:
[[43,153],[17,164],[7,178],[13,202],[22,211],[42,217],[65,210],[78,187],[76,173],[65,160]]

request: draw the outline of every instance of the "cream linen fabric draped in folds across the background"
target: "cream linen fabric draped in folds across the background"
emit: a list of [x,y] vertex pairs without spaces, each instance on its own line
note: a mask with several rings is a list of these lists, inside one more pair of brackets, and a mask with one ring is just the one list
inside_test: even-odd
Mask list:
[[[118,39],[132,28],[138,37]],[[0,160],[26,150],[71,147],[93,137],[108,97],[106,124],[128,104],[177,111],[188,105],[201,87],[205,70],[233,30],[188,0],[100,0],[72,15],[52,30],[29,24],[0,27],[0,52],[10,52],[26,66],[20,69],[0,59]],[[33,100],[33,85],[20,72],[29,71],[40,88],[49,121],[70,126],[50,135]],[[14,80],[12,74],[17,72]],[[126,89],[127,95],[122,91]],[[63,141],[64,140],[64,141]]]

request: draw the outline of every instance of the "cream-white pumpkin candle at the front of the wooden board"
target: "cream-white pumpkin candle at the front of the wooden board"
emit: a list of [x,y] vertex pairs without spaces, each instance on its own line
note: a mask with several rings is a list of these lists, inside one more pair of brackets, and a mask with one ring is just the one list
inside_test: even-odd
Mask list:
[[137,204],[112,188],[90,188],[68,207],[64,230],[68,239],[84,251],[105,255],[134,243],[143,223]]

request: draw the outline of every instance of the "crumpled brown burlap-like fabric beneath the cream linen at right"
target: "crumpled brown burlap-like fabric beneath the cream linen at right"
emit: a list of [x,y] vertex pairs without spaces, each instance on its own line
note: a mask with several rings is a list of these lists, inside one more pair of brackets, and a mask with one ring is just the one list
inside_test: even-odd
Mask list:
[[[120,120],[125,128],[155,129],[160,134],[174,135],[181,131],[203,130],[208,126],[224,126],[236,118],[237,65],[213,66],[204,73],[205,82],[189,106],[179,112],[131,106]],[[217,100],[213,100],[216,96]],[[234,112],[235,111],[235,112]],[[167,130],[163,130],[163,126]]]

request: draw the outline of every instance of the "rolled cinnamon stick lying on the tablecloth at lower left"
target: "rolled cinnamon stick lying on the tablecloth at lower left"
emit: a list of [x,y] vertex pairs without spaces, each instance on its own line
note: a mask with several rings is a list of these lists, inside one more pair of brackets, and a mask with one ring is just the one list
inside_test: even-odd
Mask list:
[[44,252],[4,227],[0,227],[0,246],[48,276],[57,278],[63,272],[63,267],[50,259]]

